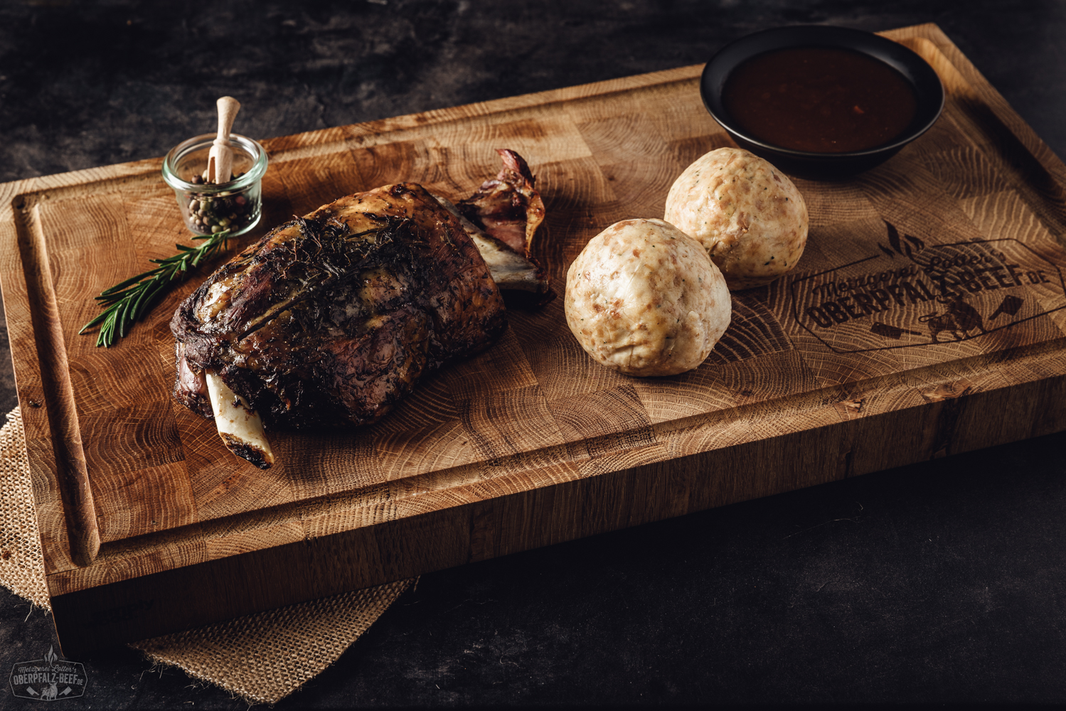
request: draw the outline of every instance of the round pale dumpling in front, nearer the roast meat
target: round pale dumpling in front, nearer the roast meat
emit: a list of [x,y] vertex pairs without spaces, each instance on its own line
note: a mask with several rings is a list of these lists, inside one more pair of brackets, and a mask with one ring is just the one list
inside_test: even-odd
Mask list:
[[732,313],[707,252],[662,220],[625,220],[594,237],[566,273],[565,307],[581,348],[628,375],[692,370]]

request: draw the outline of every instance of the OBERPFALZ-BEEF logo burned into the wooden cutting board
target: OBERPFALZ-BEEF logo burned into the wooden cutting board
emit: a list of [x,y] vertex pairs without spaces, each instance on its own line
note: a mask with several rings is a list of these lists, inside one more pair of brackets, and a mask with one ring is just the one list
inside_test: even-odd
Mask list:
[[1018,240],[926,244],[885,225],[881,254],[790,285],[796,321],[837,353],[965,341],[1066,307],[1059,266]]

